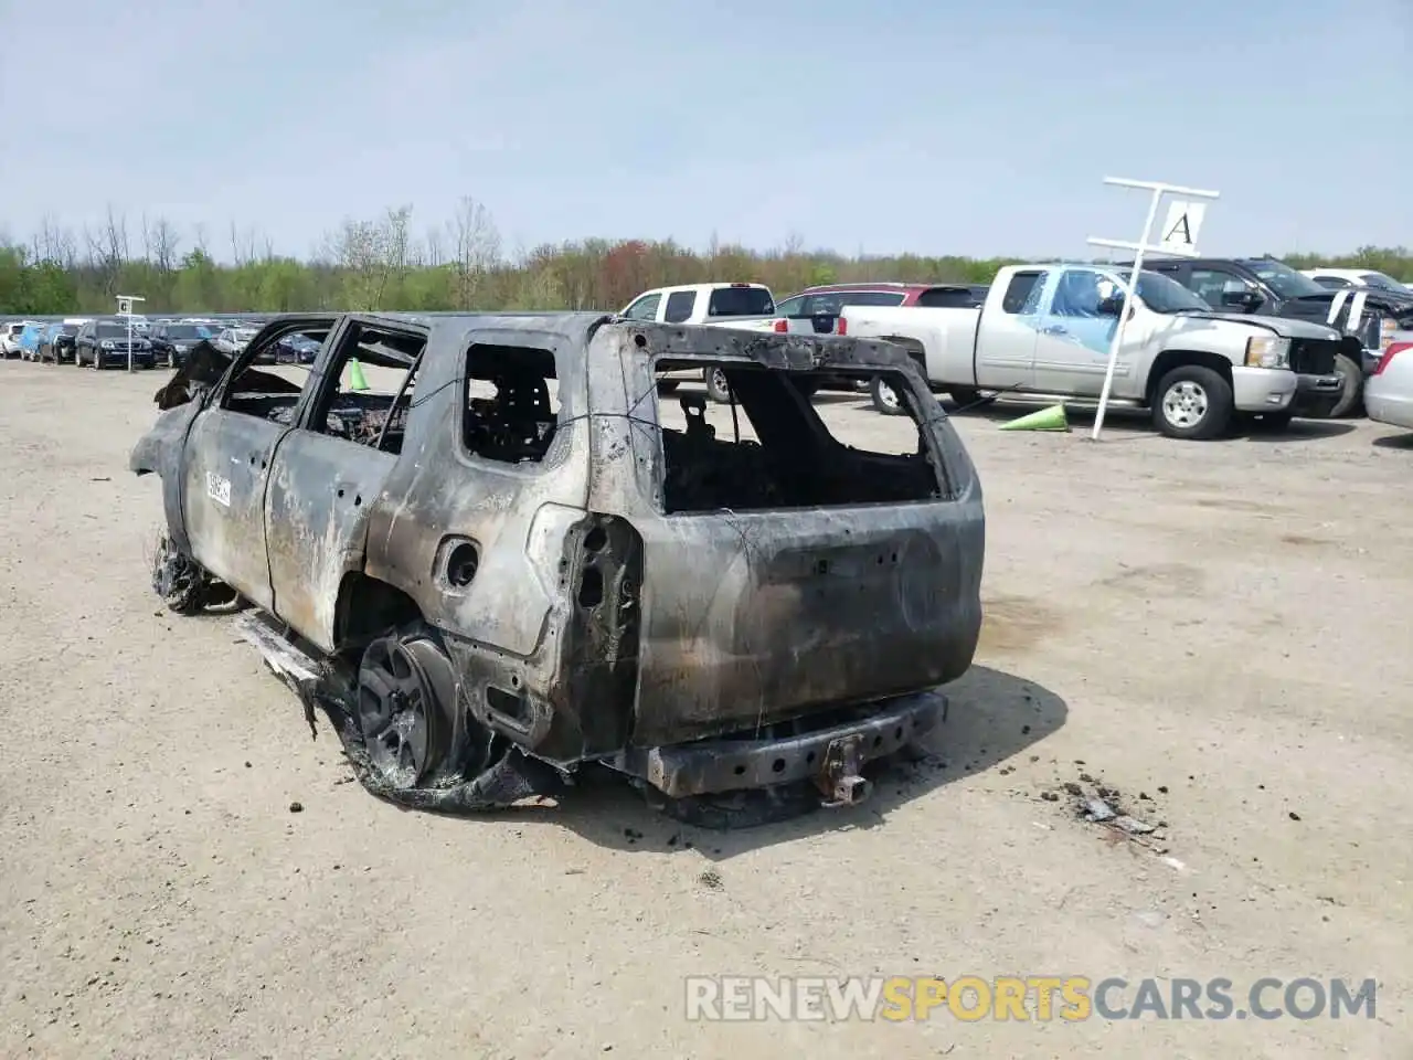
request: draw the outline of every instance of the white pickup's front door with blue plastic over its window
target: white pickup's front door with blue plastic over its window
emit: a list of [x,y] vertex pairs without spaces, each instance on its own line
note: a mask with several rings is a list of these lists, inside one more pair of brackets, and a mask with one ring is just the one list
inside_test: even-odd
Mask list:
[[[1036,390],[1098,397],[1109,363],[1109,343],[1118,317],[1098,311],[1101,284],[1113,280],[1096,269],[1057,269],[1041,295],[1040,336],[1036,343]],[[1126,334],[1128,338],[1128,334]],[[1132,358],[1123,353],[1115,367],[1115,386],[1132,375]]]

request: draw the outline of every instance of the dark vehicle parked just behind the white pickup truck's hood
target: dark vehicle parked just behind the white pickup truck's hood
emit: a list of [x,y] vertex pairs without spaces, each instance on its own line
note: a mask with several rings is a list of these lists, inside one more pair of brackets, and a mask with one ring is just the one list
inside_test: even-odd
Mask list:
[[1335,360],[1344,377],[1332,416],[1355,416],[1364,377],[1373,370],[1395,329],[1413,328],[1413,301],[1390,291],[1364,290],[1356,298],[1321,287],[1272,257],[1200,257],[1153,261],[1152,269],[1177,280],[1215,310],[1289,317],[1337,326],[1359,338],[1358,352]]

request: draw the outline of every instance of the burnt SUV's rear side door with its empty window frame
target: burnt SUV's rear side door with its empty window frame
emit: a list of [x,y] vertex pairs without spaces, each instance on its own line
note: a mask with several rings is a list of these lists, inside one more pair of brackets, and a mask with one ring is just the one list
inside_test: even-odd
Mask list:
[[398,459],[314,427],[339,386],[343,345],[363,328],[421,336],[422,352],[408,366],[410,375],[427,358],[427,325],[345,315],[324,341],[266,489],[271,613],[325,652],[336,649],[339,591],[348,574],[363,571],[369,517]]

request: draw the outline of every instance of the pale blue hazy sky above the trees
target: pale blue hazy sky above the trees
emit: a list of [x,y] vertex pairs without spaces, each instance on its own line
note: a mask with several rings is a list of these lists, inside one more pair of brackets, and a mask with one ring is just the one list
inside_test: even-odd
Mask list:
[[0,40],[16,237],[112,204],[304,256],[472,195],[507,250],[1089,256],[1119,175],[1221,191],[1210,253],[1413,245],[1413,0],[0,0]]

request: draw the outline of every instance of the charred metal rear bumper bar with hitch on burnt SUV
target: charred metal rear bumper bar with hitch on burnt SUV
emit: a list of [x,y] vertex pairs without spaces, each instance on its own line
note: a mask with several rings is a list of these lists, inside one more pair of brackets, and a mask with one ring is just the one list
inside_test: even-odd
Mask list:
[[859,762],[892,755],[933,729],[947,711],[937,691],[885,700],[865,717],[783,739],[705,739],[670,748],[629,749],[609,759],[673,799],[815,780],[821,786],[831,748],[852,745]]

